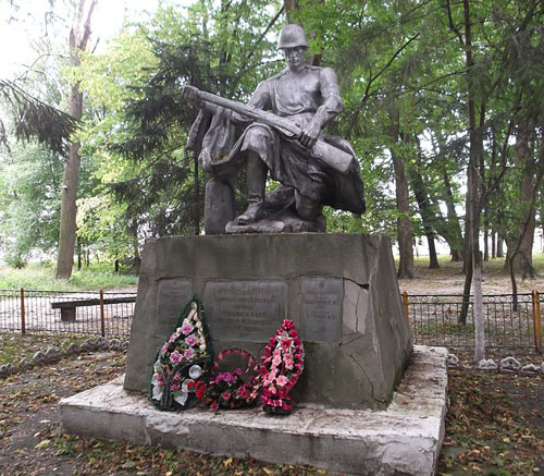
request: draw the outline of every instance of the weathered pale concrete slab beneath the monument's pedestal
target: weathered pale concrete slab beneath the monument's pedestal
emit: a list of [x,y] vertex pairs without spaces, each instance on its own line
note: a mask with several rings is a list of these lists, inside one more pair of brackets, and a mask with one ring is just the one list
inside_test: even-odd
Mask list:
[[65,432],[177,447],[270,463],[364,475],[434,474],[447,408],[447,351],[415,346],[386,411],[307,404],[270,417],[260,408],[154,410],[123,390],[123,378],[60,402]]

